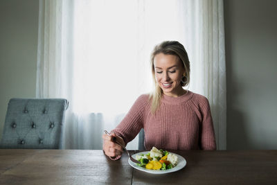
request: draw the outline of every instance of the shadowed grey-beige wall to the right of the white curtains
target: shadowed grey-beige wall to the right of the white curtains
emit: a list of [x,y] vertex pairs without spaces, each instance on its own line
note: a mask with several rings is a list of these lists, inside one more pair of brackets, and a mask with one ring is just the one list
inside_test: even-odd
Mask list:
[[277,1],[224,1],[227,149],[277,149]]

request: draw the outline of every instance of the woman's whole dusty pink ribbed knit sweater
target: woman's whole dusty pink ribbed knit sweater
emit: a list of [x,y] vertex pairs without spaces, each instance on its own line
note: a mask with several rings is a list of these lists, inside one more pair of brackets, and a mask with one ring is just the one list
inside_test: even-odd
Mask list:
[[215,150],[215,134],[207,98],[188,91],[177,98],[163,95],[153,115],[149,95],[141,95],[113,130],[125,143],[145,130],[145,149]]

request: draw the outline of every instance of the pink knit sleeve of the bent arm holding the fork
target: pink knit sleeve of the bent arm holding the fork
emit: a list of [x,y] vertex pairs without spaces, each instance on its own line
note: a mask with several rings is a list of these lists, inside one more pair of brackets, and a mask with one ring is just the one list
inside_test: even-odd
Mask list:
[[148,103],[148,95],[141,95],[136,99],[134,105],[132,105],[129,112],[126,114],[123,121],[112,130],[115,134],[118,134],[123,138],[125,144],[132,141],[143,127],[143,115],[145,112],[145,106]]

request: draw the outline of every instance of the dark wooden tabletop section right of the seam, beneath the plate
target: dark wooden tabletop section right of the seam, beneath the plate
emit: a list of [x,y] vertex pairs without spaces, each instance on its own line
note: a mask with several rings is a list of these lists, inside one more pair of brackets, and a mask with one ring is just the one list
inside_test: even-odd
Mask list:
[[277,184],[277,150],[172,152],[185,168],[163,175],[134,169],[132,184]]

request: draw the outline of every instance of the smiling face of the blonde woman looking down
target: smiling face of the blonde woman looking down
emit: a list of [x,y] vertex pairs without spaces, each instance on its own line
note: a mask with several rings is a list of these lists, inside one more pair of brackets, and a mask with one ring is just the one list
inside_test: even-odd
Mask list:
[[154,57],[155,79],[163,94],[177,97],[184,94],[181,78],[185,75],[183,64],[176,55],[159,53]]

